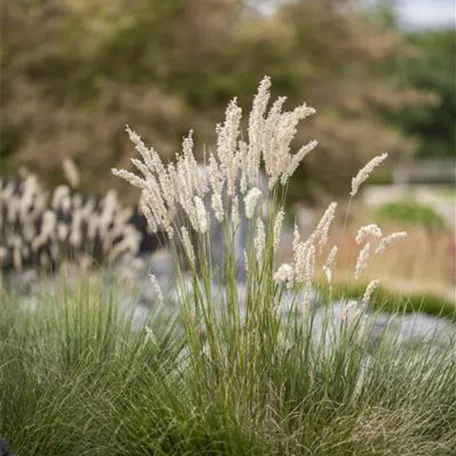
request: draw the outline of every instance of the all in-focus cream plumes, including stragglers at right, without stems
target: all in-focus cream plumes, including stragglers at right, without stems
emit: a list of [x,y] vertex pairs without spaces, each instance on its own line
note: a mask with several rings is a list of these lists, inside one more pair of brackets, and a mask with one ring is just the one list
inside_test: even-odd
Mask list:
[[[141,138],[127,126],[130,139],[141,156],[141,160],[132,159],[141,177],[126,170],[113,169],[112,172],[141,189],[140,207],[152,230],[163,230],[170,239],[177,232],[191,263],[195,262],[197,253],[192,245],[189,228],[197,236],[204,236],[211,223],[224,223],[231,232],[235,232],[240,218],[245,217],[251,227],[250,241],[244,252],[247,269],[254,266],[261,270],[266,259],[270,260],[271,267],[266,269],[273,282],[279,285],[278,288],[301,287],[306,301],[315,276],[316,258],[328,243],[328,233],[337,204],[333,202],[329,205],[315,231],[307,239],[301,239],[299,229],[295,227],[292,262],[274,267],[273,254],[279,245],[285,215],[283,207],[278,203],[280,198],[277,197],[276,190],[279,186],[287,185],[304,157],[317,146],[317,141],[310,141],[294,153],[291,151],[290,145],[298,123],[314,114],[315,110],[302,104],[292,111],[284,111],[285,97],[279,97],[268,109],[270,88],[271,81],[265,77],[253,100],[245,140],[245,135],[241,135],[242,110],[236,99],[229,103],[224,123],[216,127],[216,148],[206,157],[206,166],[199,166],[194,156],[192,132],[184,138],[182,152],[177,155],[176,161],[165,164],[157,151],[147,148]],[[386,156],[383,154],[375,157],[353,178],[351,198]],[[262,168],[267,178],[268,194],[264,194],[259,185]],[[268,206],[265,214],[264,204],[260,204],[260,201],[267,200],[272,200],[273,204]],[[189,220],[190,227],[178,222],[181,218],[177,215],[182,212]],[[403,233],[382,238],[381,231],[372,226],[364,227],[358,233],[360,242],[372,236],[381,238],[377,247],[377,253],[380,254]],[[365,267],[370,246],[367,242],[361,250],[356,277]],[[251,251],[254,255],[250,254]],[[332,279],[336,255],[337,246],[332,246],[323,266],[328,282]],[[264,274],[261,277],[265,280]],[[372,283],[366,290],[366,299],[376,283]]]

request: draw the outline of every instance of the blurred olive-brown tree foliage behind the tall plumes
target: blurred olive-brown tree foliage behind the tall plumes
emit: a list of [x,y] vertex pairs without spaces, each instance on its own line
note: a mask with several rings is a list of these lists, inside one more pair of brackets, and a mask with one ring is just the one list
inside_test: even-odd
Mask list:
[[290,0],[269,14],[247,0],[15,0],[3,10],[1,173],[25,165],[55,183],[72,157],[95,190],[120,185],[109,169],[129,166],[125,124],[165,156],[193,128],[202,153],[229,99],[248,112],[268,74],[288,106],[317,109],[296,145],[320,146],[291,196],[345,195],[373,155],[413,150],[403,132],[421,127],[385,115],[412,119],[438,79],[416,70],[404,84],[392,69],[413,47],[351,0]]

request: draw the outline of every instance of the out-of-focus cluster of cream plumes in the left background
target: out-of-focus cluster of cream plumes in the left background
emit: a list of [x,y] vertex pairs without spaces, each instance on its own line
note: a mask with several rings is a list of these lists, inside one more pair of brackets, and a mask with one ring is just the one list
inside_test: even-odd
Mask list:
[[0,272],[56,271],[68,260],[83,267],[131,262],[146,253],[145,241],[148,253],[158,244],[137,218],[112,190],[83,196],[67,185],[49,191],[33,174],[0,179]]

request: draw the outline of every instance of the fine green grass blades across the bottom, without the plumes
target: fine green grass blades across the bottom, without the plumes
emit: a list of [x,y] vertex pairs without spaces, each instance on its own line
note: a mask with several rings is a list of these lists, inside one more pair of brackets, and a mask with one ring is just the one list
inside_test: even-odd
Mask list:
[[0,438],[20,456],[454,455],[445,347],[372,351],[352,330],[312,344],[294,324],[236,342],[220,325],[220,352],[198,354],[160,309],[153,336],[133,333],[115,290],[38,306],[0,303]]

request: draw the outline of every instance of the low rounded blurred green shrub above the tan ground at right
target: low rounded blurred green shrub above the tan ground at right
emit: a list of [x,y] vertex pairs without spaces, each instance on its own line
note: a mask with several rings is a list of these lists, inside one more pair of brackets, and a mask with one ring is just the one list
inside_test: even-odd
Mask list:
[[447,224],[432,207],[413,200],[395,201],[379,206],[375,210],[376,221],[416,225],[427,230],[447,230]]

